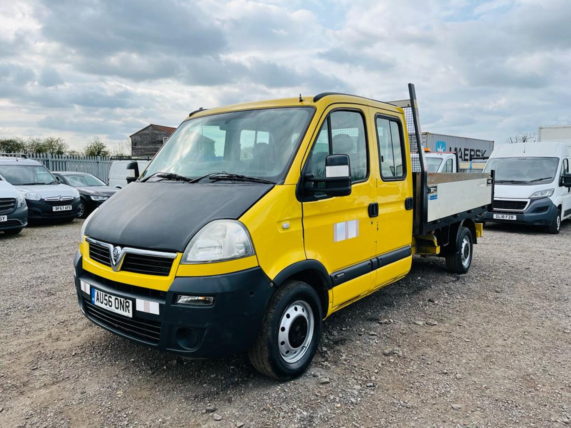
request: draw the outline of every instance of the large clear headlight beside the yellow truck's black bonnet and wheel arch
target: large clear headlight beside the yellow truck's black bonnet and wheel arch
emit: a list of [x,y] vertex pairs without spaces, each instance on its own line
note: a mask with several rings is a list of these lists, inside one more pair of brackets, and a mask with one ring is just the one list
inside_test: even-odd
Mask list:
[[214,220],[188,243],[180,263],[207,263],[254,255],[246,227],[236,220]]

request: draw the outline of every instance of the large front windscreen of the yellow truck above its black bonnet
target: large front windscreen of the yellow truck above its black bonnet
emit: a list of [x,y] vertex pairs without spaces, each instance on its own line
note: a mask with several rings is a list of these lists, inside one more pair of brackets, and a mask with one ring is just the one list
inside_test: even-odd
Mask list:
[[266,108],[182,123],[148,165],[185,177],[234,173],[282,180],[313,114],[311,107]]

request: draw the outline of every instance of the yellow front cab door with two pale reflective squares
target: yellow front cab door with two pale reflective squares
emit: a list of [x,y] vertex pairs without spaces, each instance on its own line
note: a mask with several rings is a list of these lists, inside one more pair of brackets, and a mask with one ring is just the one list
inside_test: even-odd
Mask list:
[[332,308],[368,293],[372,286],[376,224],[369,217],[369,205],[375,203],[376,189],[369,166],[373,139],[368,135],[367,111],[356,104],[328,108],[301,172],[325,177],[327,155],[349,156],[351,195],[302,196],[305,253],[331,275]]

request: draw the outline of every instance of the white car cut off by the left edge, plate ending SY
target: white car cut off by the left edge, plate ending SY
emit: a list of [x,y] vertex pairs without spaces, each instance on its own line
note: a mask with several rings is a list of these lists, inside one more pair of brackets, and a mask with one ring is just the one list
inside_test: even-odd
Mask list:
[[16,235],[28,224],[26,199],[0,176],[0,232]]

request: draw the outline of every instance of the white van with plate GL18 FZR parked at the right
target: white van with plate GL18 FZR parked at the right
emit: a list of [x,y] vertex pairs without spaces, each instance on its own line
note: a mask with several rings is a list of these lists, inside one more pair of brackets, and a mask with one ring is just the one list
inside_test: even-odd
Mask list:
[[485,221],[544,226],[559,233],[571,217],[571,143],[514,143],[497,146],[484,172],[495,171],[492,212]]

